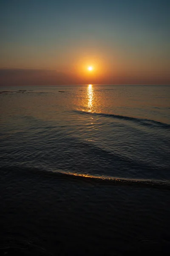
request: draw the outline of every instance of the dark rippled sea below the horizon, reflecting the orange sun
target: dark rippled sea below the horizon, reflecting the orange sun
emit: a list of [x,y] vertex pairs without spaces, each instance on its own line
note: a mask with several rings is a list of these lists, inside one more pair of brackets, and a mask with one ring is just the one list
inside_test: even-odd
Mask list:
[[0,87],[0,253],[170,251],[170,86]]

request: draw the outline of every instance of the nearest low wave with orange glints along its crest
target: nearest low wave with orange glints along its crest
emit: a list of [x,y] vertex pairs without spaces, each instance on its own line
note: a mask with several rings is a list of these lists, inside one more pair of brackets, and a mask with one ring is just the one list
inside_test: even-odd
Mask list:
[[88,174],[78,174],[72,172],[63,172],[62,170],[57,171],[47,171],[45,169],[37,168],[28,168],[28,167],[3,167],[1,169],[1,174],[3,175],[14,175],[16,172],[19,172],[19,177],[26,178],[25,175],[28,175],[28,178],[36,177],[45,177],[45,178],[60,178],[69,181],[77,182],[87,182],[94,184],[108,184],[108,185],[118,185],[118,186],[137,186],[137,187],[152,187],[157,189],[167,189],[170,190],[170,181],[168,180],[142,180],[142,179],[126,179],[119,177],[107,177],[107,176],[93,176]]

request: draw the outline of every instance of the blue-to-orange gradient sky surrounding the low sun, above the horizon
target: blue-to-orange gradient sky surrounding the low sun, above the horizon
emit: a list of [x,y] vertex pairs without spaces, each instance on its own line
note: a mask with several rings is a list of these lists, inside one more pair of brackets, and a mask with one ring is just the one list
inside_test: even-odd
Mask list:
[[169,0],[0,0],[0,85],[170,84],[169,13]]

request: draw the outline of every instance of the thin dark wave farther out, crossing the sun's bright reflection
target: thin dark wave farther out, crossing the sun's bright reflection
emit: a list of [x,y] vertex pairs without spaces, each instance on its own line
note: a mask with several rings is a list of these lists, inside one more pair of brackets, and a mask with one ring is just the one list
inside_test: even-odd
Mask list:
[[146,125],[146,126],[159,126],[161,128],[165,129],[170,129],[170,125],[155,121],[152,119],[143,119],[143,118],[137,118],[137,117],[131,117],[131,116],[121,116],[121,115],[116,115],[116,114],[108,114],[108,113],[96,113],[96,112],[88,112],[88,111],[80,111],[80,110],[74,110],[75,113],[79,114],[88,114],[88,115],[93,115],[93,116],[105,116],[105,117],[111,117],[111,118],[116,118],[116,119],[123,119],[125,121],[133,121],[133,122],[138,122],[141,125]]

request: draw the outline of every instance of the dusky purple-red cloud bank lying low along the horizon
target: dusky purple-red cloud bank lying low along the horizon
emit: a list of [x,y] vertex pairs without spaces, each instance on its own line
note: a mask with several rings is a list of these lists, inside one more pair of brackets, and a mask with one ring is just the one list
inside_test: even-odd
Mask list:
[[57,85],[57,84],[170,84],[170,76],[163,74],[127,73],[86,77],[73,72],[37,69],[0,69],[0,86]]

